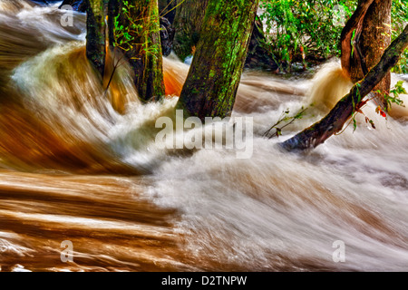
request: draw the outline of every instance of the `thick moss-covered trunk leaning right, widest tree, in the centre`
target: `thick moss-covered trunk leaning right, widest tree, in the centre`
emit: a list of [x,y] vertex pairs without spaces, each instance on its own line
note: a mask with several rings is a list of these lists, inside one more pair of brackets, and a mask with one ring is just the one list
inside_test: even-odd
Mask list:
[[197,51],[178,108],[227,117],[237,94],[259,0],[209,0]]

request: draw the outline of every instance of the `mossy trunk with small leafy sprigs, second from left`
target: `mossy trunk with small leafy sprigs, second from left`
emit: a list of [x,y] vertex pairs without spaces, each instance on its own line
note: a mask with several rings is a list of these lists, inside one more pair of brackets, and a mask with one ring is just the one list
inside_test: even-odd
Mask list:
[[[125,5],[122,0],[111,1],[111,47],[117,47],[129,60],[141,100],[157,100],[164,95],[158,2],[132,0]],[[113,20],[118,15],[119,24],[115,26]]]

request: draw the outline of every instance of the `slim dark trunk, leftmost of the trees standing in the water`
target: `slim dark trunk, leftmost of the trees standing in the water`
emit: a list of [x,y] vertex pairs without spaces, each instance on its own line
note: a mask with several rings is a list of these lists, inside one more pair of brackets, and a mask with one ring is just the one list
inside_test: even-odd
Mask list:
[[86,56],[103,77],[106,58],[105,7],[108,0],[86,1]]

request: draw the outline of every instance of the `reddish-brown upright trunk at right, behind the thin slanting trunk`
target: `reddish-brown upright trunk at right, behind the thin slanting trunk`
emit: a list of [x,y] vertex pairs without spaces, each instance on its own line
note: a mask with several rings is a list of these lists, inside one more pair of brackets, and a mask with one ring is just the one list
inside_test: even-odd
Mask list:
[[[343,56],[349,57],[346,53],[350,53],[349,63],[345,69],[352,82],[362,80],[364,75],[378,63],[384,49],[391,43],[391,7],[392,0],[360,0],[359,8],[363,8],[364,13],[355,17],[357,24],[354,27],[345,27],[345,30],[348,29],[349,39],[343,42],[343,46],[348,46]],[[354,29],[355,45],[352,49],[350,36]],[[351,51],[354,53],[351,54]],[[389,92],[390,86],[391,73],[387,73],[384,79],[375,86],[374,91]],[[378,94],[377,99],[386,107],[383,95],[384,93]]]

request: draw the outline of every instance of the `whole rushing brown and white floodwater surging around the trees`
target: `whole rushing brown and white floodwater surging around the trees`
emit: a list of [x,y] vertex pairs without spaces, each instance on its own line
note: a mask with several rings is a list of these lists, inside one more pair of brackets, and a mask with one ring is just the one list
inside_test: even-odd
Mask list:
[[[408,270],[406,109],[385,120],[368,104],[376,130],[358,116],[355,132],[282,152],[278,141],[324,116],[321,92],[349,83],[334,89],[336,63],[313,82],[246,72],[234,115],[254,118],[252,158],[160,150],[154,124],[177,97],[142,105],[124,64],[104,92],[84,53],[85,16],[64,28],[61,15],[0,1],[3,271]],[[188,69],[165,59],[170,95]],[[282,111],[310,102],[278,140],[262,137]],[[60,258],[64,240],[73,262]]]

